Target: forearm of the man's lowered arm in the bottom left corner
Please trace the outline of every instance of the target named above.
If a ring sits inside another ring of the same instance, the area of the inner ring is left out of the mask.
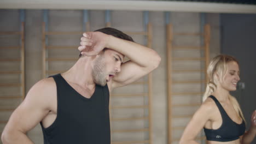
[[[27,137],[26,134],[21,131],[3,131],[1,136],[3,144],[9,143],[26,143],[33,144],[33,142]]]

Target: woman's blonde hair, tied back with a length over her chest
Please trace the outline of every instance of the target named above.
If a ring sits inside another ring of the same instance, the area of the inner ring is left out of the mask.
[[[216,90],[217,75],[223,81],[223,77],[226,74],[227,63],[229,62],[236,62],[238,64],[236,58],[228,55],[218,55],[211,59],[207,68],[207,76],[210,81],[207,83],[205,94],[203,94],[203,101],[205,101]],[[230,95],[229,99],[236,113],[242,117],[243,121],[245,121],[245,117],[243,117],[242,110],[236,98]]]

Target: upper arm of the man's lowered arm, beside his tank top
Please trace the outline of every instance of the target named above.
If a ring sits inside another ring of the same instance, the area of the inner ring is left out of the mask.
[[[36,84],[37,85],[37,84]],[[49,103],[43,97],[47,94],[40,86],[34,86],[26,98],[11,114],[5,129],[19,130],[24,133],[36,127],[49,112]],[[47,90],[46,90],[47,91]]]

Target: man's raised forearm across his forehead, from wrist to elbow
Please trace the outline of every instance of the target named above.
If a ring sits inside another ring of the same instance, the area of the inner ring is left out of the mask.
[[[159,64],[160,56],[146,46],[109,35],[107,48],[123,53],[132,62],[142,67],[155,67]]]

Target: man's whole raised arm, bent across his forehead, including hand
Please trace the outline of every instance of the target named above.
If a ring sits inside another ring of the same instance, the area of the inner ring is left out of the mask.
[[[121,65],[121,71],[113,78],[112,88],[132,83],[158,67],[161,58],[153,49],[101,32],[84,33],[79,50],[83,55],[97,55],[104,48],[117,51],[130,59]]]

